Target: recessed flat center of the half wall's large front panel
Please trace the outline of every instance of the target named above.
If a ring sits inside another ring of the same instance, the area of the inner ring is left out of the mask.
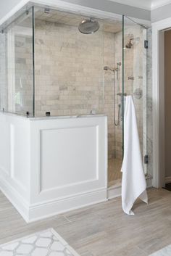
[[[98,180],[98,131],[98,126],[41,131],[41,191]]]

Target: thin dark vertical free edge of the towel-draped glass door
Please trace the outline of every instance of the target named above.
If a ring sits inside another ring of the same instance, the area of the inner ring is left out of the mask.
[[[125,47],[125,15],[122,15],[122,158],[124,155],[124,85],[125,85],[125,62],[124,62],[124,47]]]

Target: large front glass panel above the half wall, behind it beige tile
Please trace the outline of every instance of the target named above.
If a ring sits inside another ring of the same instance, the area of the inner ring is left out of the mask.
[[[90,115],[103,111],[103,22],[83,34],[85,18],[53,9],[35,10],[36,116]]]

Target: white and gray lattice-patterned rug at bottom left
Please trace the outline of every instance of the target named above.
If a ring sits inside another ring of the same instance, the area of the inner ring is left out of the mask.
[[[79,256],[53,228],[0,245],[0,256]]]

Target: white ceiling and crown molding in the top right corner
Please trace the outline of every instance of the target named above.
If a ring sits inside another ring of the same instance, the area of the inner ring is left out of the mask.
[[[127,4],[133,7],[139,7],[142,9],[157,9],[159,7],[162,7],[166,4],[170,4],[171,0],[109,0],[109,1],[115,1],[120,4]]]

